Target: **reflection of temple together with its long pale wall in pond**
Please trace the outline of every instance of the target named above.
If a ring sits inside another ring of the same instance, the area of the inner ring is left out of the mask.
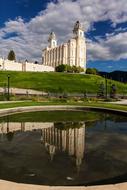
[[[75,158],[79,170],[85,150],[84,122],[2,122],[0,123],[0,139],[9,133],[41,130],[41,142],[48,151],[51,160],[57,151],[66,152]]]

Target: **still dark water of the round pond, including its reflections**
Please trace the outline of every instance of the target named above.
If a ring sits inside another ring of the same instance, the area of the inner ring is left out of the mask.
[[[127,181],[127,117],[90,111],[1,117],[0,179],[44,185]]]

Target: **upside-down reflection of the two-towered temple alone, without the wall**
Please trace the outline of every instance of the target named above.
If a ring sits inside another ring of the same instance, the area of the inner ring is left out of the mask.
[[[75,123],[71,123],[73,126]],[[57,150],[67,152],[69,156],[74,156],[77,169],[80,168],[85,150],[85,123],[77,123],[75,128],[60,129],[57,127],[42,129],[41,140],[48,150],[51,160]]]

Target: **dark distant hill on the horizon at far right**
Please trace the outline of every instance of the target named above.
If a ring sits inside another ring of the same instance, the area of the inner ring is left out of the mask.
[[[127,82],[127,72],[126,71],[113,71],[111,73],[99,72],[101,76],[106,76],[109,79],[116,80],[119,82]]]

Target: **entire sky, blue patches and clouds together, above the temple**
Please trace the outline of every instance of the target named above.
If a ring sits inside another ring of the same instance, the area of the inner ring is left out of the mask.
[[[13,49],[17,60],[41,61],[50,31],[65,42],[77,20],[85,30],[87,67],[127,71],[126,0],[1,0],[0,57]]]

